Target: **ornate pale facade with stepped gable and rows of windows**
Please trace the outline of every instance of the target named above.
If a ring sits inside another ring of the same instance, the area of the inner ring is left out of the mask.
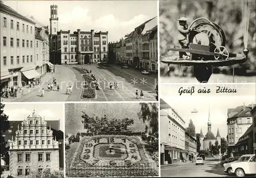
[[[59,170],[59,142],[44,118],[34,111],[15,133],[9,149],[12,176],[26,177],[42,169]]]

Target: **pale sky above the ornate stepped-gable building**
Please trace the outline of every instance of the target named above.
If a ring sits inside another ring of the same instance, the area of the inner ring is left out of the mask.
[[[62,103],[5,103],[4,113],[9,116],[9,121],[23,121],[33,113],[45,117],[45,120],[59,120],[60,130],[64,131],[64,106]]]

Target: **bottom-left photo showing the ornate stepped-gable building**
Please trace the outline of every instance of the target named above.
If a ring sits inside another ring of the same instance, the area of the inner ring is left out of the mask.
[[[1,178],[64,177],[64,105],[1,103]]]

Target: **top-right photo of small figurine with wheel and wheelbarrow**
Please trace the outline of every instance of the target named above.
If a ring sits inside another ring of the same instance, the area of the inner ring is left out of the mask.
[[[255,82],[255,1],[159,1],[160,83]]]

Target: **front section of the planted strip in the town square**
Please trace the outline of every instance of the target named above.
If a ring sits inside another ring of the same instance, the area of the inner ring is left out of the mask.
[[[95,98],[96,92],[93,84],[93,78],[89,75],[83,75],[84,87],[82,98]]]

